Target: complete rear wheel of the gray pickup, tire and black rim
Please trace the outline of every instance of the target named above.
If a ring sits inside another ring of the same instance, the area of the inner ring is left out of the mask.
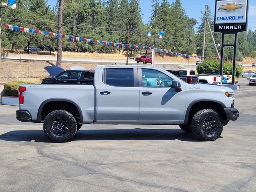
[[[50,112],[44,120],[44,133],[54,142],[70,142],[76,130],[76,119],[65,110]]]

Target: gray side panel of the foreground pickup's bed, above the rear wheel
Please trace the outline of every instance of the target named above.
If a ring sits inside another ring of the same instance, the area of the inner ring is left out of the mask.
[[[28,110],[32,120],[38,119],[40,106],[46,101],[54,100],[69,101],[78,105],[84,123],[92,123],[94,120],[93,85],[21,84],[20,86],[26,87],[26,91],[22,93],[24,104],[20,105],[20,110]]]

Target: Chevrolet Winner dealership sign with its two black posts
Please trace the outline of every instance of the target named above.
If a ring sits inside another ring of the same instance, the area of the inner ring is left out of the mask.
[[[234,47],[232,84],[236,76],[236,46],[238,32],[246,31],[248,0],[216,0],[214,32],[222,33],[220,75],[223,75],[224,47]],[[224,44],[225,34],[234,34],[234,44]]]

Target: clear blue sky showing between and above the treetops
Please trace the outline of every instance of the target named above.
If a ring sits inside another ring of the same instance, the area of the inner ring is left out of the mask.
[[[50,6],[55,6],[57,0],[48,0]],[[162,1],[160,0],[160,3]],[[175,2],[175,0],[169,0],[168,2]],[[205,5],[210,6],[212,14],[214,14],[215,0],[181,0],[182,7],[185,9],[186,14],[190,18],[194,18],[198,23],[201,22],[201,11],[205,11]],[[142,20],[144,23],[149,22],[151,16],[150,10],[152,9],[151,0],[140,0],[140,8],[142,14]],[[199,24],[196,25],[196,27]],[[197,31],[197,28],[195,30]],[[249,0],[249,11],[248,11],[248,27],[247,29],[256,30],[256,0]]]

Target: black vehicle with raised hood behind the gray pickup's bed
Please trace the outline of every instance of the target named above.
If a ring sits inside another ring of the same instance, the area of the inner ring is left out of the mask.
[[[48,66],[44,69],[51,77],[44,78],[41,84],[93,84],[94,70],[66,70],[59,73],[56,66]]]

